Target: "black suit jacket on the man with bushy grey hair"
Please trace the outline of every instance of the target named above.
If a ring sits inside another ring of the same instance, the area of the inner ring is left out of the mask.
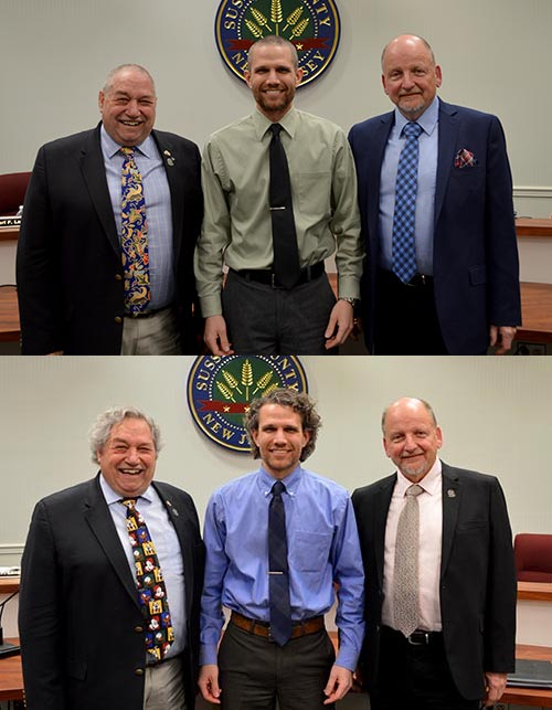
[[[204,548],[190,496],[153,486],[183,558],[184,687],[193,708]],[[22,559],[19,624],[30,710],[142,710],[142,616],[98,477],[36,505]]]

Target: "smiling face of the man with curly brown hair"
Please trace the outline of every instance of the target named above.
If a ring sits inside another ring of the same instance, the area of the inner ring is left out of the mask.
[[[258,411],[258,430],[252,432],[266,470],[275,478],[288,476],[299,464],[310,432],[290,406],[264,404]]]

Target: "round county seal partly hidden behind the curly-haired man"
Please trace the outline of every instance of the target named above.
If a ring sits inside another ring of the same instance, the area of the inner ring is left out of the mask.
[[[200,356],[188,377],[188,406],[200,431],[235,452],[251,451],[243,425],[250,402],[277,388],[308,392],[295,356]]]

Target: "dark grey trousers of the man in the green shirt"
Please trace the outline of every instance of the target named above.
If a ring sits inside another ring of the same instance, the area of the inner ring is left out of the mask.
[[[325,350],[336,297],[321,274],[287,290],[229,272],[222,292],[223,315],[237,354],[336,354]]]

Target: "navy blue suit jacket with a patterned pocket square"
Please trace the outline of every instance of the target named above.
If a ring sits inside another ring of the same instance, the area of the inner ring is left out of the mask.
[[[380,173],[393,125],[394,112],[390,112],[357,124],[349,134],[367,252],[362,301],[369,349],[373,348],[378,298]],[[448,351],[470,354],[487,348],[490,325],[521,324],[511,172],[496,116],[439,100],[438,131],[433,250],[436,309]],[[475,167],[455,167],[463,148],[474,153]]]

